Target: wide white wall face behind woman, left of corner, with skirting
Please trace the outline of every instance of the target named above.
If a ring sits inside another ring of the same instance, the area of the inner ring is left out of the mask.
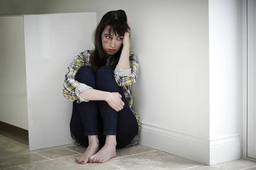
[[[3,2],[3,14],[96,12],[98,22],[106,12],[124,9],[131,23],[131,50],[140,59],[133,87],[134,110],[143,122],[140,144],[209,161],[208,1]],[[152,137],[159,140],[148,140]]]

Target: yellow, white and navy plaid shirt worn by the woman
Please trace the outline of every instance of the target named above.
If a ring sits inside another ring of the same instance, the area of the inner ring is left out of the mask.
[[[89,102],[88,100],[84,100],[79,96],[79,93],[86,91],[92,87],[85,85],[83,83],[79,83],[75,80],[76,72],[79,70],[81,66],[91,66],[90,65],[90,54],[93,50],[86,50],[80,54],[78,54],[73,61],[70,63],[68,69],[69,72],[65,74],[64,86],[63,86],[63,95],[65,98],[71,101],[80,102]],[[106,62],[106,66],[110,67],[113,64],[113,56],[108,57]],[[131,94],[131,85],[137,81],[138,68],[139,68],[139,60],[135,54],[130,52],[129,56],[130,68],[122,69],[118,65],[114,70],[114,77],[116,79],[116,83],[118,86],[122,87],[122,90],[125,94],[125,98],[131,108],[133,104],[132,94]],[[134,115],[136,116],[139,130],[141,128],[141,120],[135,111],[132,110]],[[139,141],[138,136],[136,136],[133,141],[129,145],[137,144]]]

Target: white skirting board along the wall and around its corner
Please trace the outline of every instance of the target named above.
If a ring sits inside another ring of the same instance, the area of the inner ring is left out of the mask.
[[[213,165],[240,159],[239,135],[210,142],[207,137],[166,130],[144,122],[139,137],[141,145],[202,164]]]

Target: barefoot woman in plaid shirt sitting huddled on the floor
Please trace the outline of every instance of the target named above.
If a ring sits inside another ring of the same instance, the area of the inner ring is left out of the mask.
[[[131,85],[139,62],[130,51],[129,30],[125,11],[109,11],[94,32],[95,48],[68,67],[63,94],[73,101],[70,133],[87,147],[77,163],[104,163],[116,149],[138,143],[141,121],[131,110]]]

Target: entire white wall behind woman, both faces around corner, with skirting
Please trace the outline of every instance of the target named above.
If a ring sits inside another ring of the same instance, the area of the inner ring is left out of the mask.
[[[107,11],[124,9],[131,50],[140,59],[133,86],[140,144],[212,164],[236,159],[239,144],[237,2],[2,0],[0,12],[96,12],[99,22]],[[222,151],[235,156],[217,159]]]

